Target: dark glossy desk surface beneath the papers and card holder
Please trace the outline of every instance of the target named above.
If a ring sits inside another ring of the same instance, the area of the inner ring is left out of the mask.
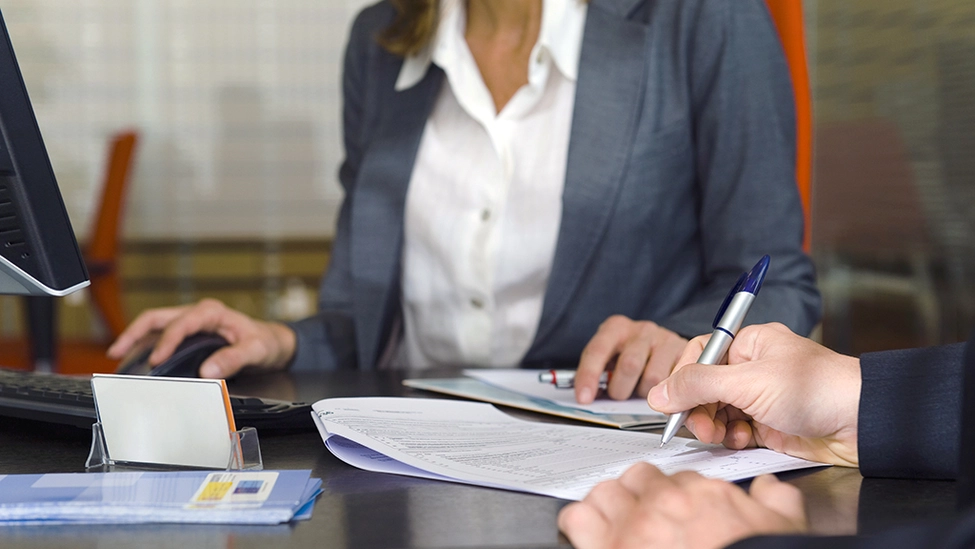
[[[442,372],[441,372],[442,373]],[[314,402],[356,395],[433,396],[402,387],[401,373],[274,374],[235,380],[231,391]],[[521,417],[540,418],[520,413]],[[370,473],[333,457],[315,431],[260,433],[267,469],[312,469],[325,493],[312,520],[275,527],[0,527],[0,547],[556,547],[563,500]],[[80,472],[90,433],[0,419],[0,474]],[[817,533],[869,532],[951,512],[954,483],[863,479],[829,467],[788,477],[802,489]]]

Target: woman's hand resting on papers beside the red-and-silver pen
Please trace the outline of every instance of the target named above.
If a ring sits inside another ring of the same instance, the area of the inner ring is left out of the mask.
[[[651,387],[668,375],[687,340],[653,322],[614,315],[599,326],[579,359],[576,400],[589,404],[596,398],[599,376],[613,365],[607,393],[625,400],[634,392],[645,397]]]

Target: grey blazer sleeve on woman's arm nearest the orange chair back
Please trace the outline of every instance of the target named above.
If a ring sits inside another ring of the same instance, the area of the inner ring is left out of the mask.
[[[761,0],[684,5],[697,11],[688,59],[705,284],[658,323],[684,336],[710,333],[738,276],[768,254],[746,322],[782,322],[807,335],[820,297],[802,250],[795,100],[782,45]]]

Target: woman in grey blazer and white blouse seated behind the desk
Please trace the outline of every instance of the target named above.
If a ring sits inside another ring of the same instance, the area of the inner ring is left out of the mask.
[[[585,356],[616,362],[611,395],[645,394],[764,254],[748,321],[818,322],[791,85],[761,0],[380,2],[352,28],[343,98],[318,314],[156,309],[110,354],[162,330],[158,362],[214,331],[231,345],[207,377],[574,368],[598,330]]]

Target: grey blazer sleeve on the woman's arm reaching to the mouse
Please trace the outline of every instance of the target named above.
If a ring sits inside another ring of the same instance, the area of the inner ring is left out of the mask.
[[[353,322],[352,274],[349,258],[350,215],[369,121],[365,105],[369,90],[371,57],[379,46],[374,36],[388,24],[388,5],[367,8],[356,17],[345,51],[342,70],[342,131],[345,159],[339,168],[339,182],[345,191],[329,257],[328,270],[319,288],[318,313],[293,322],[297,348],[293,370],[349,368],[357,365]]]

